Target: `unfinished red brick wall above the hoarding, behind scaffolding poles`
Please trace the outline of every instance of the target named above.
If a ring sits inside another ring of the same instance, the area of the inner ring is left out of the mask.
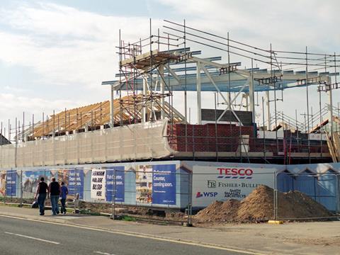
[[[290,135],[286,142],[278,140],[258,139],[254,137],[252,126],[239,127],[229,124],[206,124],[206,125],[184,125],[168,126],[169,144],[171,148],[179,152],[236,152],[239,146],[240,135],[249,135],[249,152],[308,152],[307,140],[293,140],[290,145]],[[278,147],[278,150],[277,150]],[[319,143],[310,144],[310,152],[329,152],[327,145],[320,146]]]

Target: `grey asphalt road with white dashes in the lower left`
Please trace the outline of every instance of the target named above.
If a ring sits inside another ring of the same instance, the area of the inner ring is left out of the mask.
[[[230,254],[242,252],[0,216],[0,254]]]

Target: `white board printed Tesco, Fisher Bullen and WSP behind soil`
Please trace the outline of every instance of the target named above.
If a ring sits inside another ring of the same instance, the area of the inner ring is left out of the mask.
[[[193,166],[193,206],[205,207],[215,200],[242,200],[257,186],[273,188],[274,168],[251,166]]]

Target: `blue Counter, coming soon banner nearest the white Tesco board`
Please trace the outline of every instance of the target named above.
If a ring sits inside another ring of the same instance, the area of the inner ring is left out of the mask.
[[[176,164],[152,166],[152,203],[176,205]]]

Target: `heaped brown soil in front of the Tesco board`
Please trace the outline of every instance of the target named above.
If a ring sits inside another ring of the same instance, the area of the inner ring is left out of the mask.
[[[332,215],[323,205],[300,191],[278,192],[277,208],[279,219],[320,218]],[[200,210],[195,217],[198,222],[262,222],[273,218],[273,189],[263,185],[255,188],[241,202],[215,201]]]

